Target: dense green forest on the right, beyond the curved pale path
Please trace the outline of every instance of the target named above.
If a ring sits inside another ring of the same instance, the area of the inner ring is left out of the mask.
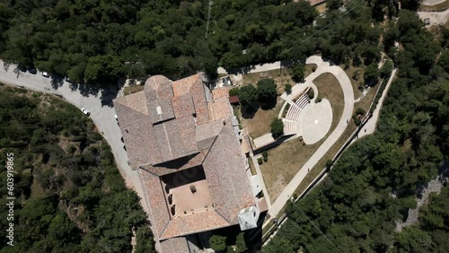
[[[405,221],[415,196],[449,159],[449,33],[435,37],[416,13],[401,10],[383,31],[399,68],[377,131],[352,144],[330,175],[287,206],[288,220],[264,252],[447,252],[449,187]],[[401,42],[395,48],[394,41]]]

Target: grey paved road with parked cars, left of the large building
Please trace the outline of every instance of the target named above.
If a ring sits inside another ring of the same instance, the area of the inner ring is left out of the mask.
[[[28,72],[19,72],[19,74],[17,74],[13,72],[15,65],[10,65],[7,69],[3,66],[4,62],[0,60],[0,82],[23,86],[37,92],[48,92],[61,95],[76,107],[90,110],[90,117],[92,118],[93,123],[95,123],[99,132],[104,133],[104,138],[110,144],[120,174],[123,179],[125,179],[128,188],[133,188],[141,199],[145,199],[143,197],[142,185],[137,171],[131,170],[128,166],[128,155],[123,149],[123,143],[120,140],[120,129],[114,118],[115,109],[101,105],[101,92],[96,96],[83,96],[79,91],[72,91],[69,87],[69,83],[66,82],[55,90],[51,85],[50,79],[43,77],[40,72],[38,72],[38,74],[30,74]],[[145,211],[148,212],[147,204],[144,203],[144,201],[141,201],[141,203],[144,206]]]

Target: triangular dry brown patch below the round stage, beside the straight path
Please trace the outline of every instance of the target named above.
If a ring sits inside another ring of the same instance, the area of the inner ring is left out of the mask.
[[[298,138],[269,150],[269,161],[260,165],[260,170],[271,202],[276,200],[323,141],[324,138],[316,144],[303,145]]]

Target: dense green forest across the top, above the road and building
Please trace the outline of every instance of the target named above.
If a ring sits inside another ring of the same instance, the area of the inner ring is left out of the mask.
[[[383,18],[388,3],[352,0],[343,14],[334,0],[314,26],[318,13],[305,1],[216,0],[210,18],[208,0],[4,1],[0,57],[77,83],[148,74],[175,80],[215,74],[218,65],[295,63],[317,51],[336,63],[357,57],[369,65],[380,58],[381,30],[372,20]]]

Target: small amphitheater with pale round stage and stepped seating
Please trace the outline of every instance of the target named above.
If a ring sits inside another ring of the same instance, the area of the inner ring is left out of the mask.
[[[329,100],[321,100],[319,103],[311,103],[307,88],[297,100],[288,100],[290,105],[284,122],[284,135],[292,135],[293,138],[303,136],[305,144],[319,142],[330,130],[332,124],[332,108]]]

